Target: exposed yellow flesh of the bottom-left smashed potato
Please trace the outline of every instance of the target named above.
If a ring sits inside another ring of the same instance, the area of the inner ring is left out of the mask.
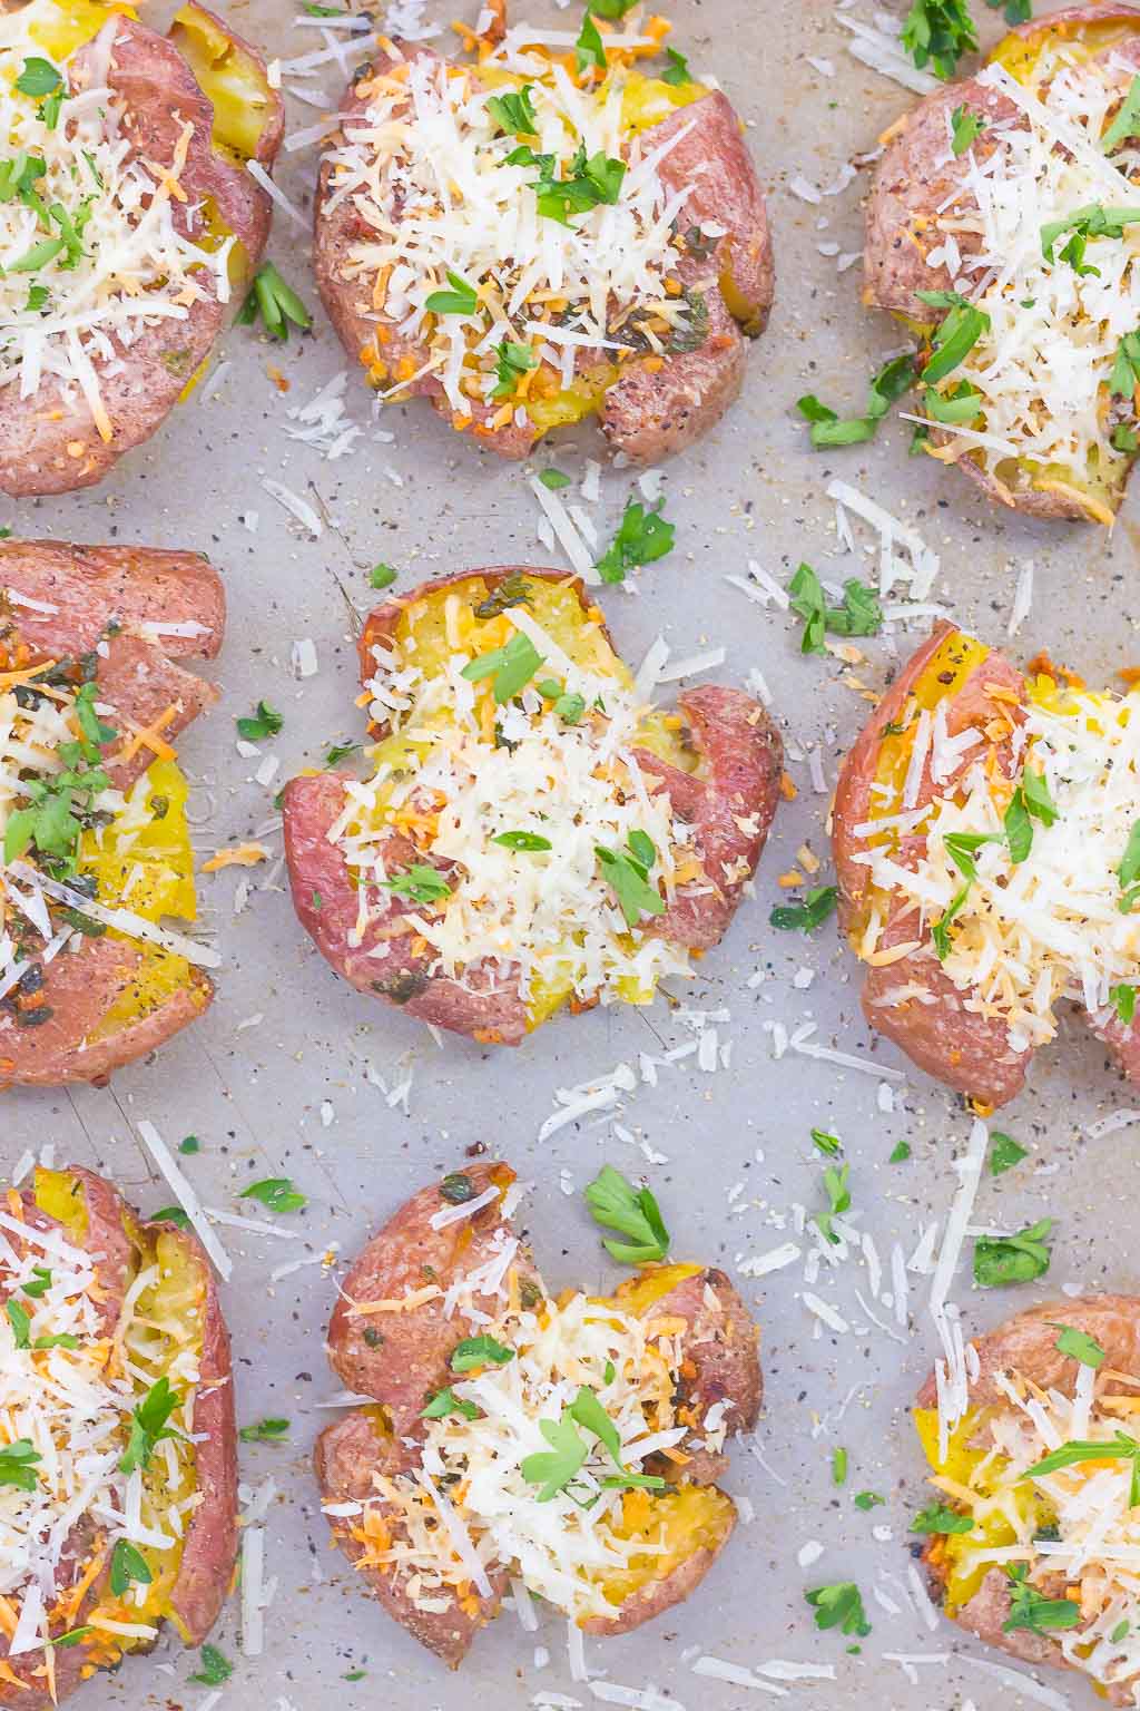
[[[87,1206],[82,1186],[65,1170],[36,1170],[36,1205],[51,1218],[60,1222],[73,1237],[82,1237],[87,1228]],[[191,1350],[195,1364],[202,1360],[202,1335],[205,1324],[207,1275],[203,1264],[186,1247],[186,1244],[169,1230],[140,1230],[133,1220],[128,1234],[135,1244],[137,1258],[132,1278],[140,1271],[156,1266],[157,1278],[135,1302],[130,1360],[138,1376],[133,1376],[135,1401],[142,1401],[147,1391],[159,1379],[171,1379],[176,1359]],[[140,1335],[137,1335],[142,1328]],[[176,1389],[181,1386],[171,1379]],[[142,1471],[142,1519],[156,1531],[166,1531],[176,1538],[174,1545],[157,1548],[154,1545],[137,1545],[150,1571],[150,1584],[142,1605],[126,1598],[115,1598],[109,1586],[106,1596],[97,1605],[97,1613],[113,1622],[159,1622],[169,1619],[181,1627],[171,1605],[171,1595],[178,1581],[183,1557],[183,1538],[174,1528],[166,1526],[166,1516],[173,1504],[181,1504],[193,1495],[197,1483],[195,1449],[188,1442],[174,1442],[176,1473],[171,1480],[166,1454],[150,1458],[150,1465]],[[183,1523],[185,1525],[185,1523]],[[94,1613],[94,1612],[92,1612]],[[183,1637],[188,1637],[183,1632]],[[84,1641],[92,1661],[113,1663],[121,1653],[145,1646],[145,1639],[94,1632]]]

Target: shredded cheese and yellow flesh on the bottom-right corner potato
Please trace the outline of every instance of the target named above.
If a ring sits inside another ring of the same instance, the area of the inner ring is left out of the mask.
[[[1015,1371],[998,1374],[996,1384],[1008,1406],[966,1415],[943,1456],[931,1413],[918,1415],[935,1470],[930,1483],[974,1519],[971,1533],[933,1542],[935,1567],[947,1574],[947,1607],[954,1613],[967,1603],[995,1567],[1024,1567],[1043,1596],[1080,1607],[1078,1625],[1048,1631],[1065,1661],[1101,1687],[1133,1682],[1140,1509],[1130,1504],[1131,1463],[1106,1456],[1032,1480],[1025,1471],[1061,1444],[1135,1436],[1140,1379],[1078,1365],[1072,1394],[1044,1391]]]

